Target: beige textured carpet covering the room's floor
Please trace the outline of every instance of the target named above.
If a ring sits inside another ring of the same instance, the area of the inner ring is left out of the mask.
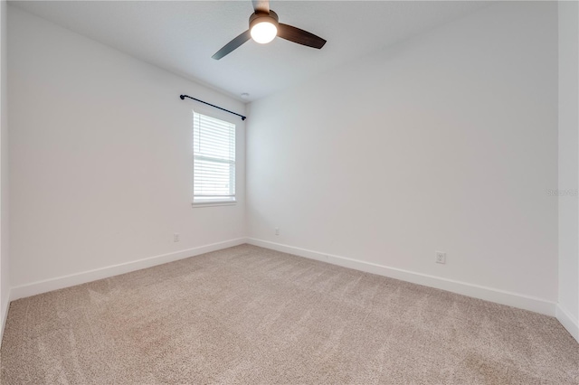
[[[3,384],[577,384],[555,318],[242,245],[14,301]]]

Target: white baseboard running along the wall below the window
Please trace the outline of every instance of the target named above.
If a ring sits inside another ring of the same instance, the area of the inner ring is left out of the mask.
[[[245,238],[230,239],[223,242],[212,243],[210,245],[200,246],[193,249],[185,249],[173,253],[162,254],[155,257],[138,259],[131,262],[121,263],[106,268],[96,268],[94,270],[83,271],[69,276],[56,277],[46,279],[43,281],[33,282],[23,286],[12,287],[10,291],[10,301],[24,298],[26,296],[35,296],[37,294],[46,293],[52,290],[58,290],[64,287],[85,284],[87,282],[96,281],[98,279],[118,276],[119,274],[129,273],[131,271],[140,270],[142,268],[151,268],[153,266],[162,265],[167,262],[173,262],[178,259],[194,257],[200,254],[211,251],[231,248],[233,246],[242,245],[246,242]],[[7,313],[7,312],[6,312]]]

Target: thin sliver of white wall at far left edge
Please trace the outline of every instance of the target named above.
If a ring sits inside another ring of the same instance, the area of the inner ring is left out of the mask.
[[[7,4],[0,1],[0,343],[10,305],[10,264],[8,247],[8,70]]]

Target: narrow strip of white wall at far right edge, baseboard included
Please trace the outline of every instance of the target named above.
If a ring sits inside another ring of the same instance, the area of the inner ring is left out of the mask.
[[[579,4],[559,2],[559,306],[579,340]]]

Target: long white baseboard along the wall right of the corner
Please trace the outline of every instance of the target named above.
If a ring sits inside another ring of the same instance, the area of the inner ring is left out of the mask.
[[[248,238],[247,243],[266,249],[274,249],[289,254],[294,254],[299,257],[316,259],[322,262],[331,263],[333,265],[342,266],[344,268],[353,268],[356,270],[365,271],[366,273],[400,279],[406,282],[412,282],[413,284],[451,291],[452,293],[457,293],[463,296],[472,296],[474,298],[484,299],[486,301],[495,302],[501,305],[513,306],[519,309],[541,313],[543,315],[555,316],[555,302],[547,301],[545,299],[536,298],[533,296],[525,296],[518,293],[495,289],[492,287],[473,285],[452,279],[429,276],[426,274],[403,270],[401,268],[389,268],[387,266],[377,265],[358,259],[340,257],[308,249],[295,248],[293,246],[282,245],[280,243],[275,243],[268,240]]]

